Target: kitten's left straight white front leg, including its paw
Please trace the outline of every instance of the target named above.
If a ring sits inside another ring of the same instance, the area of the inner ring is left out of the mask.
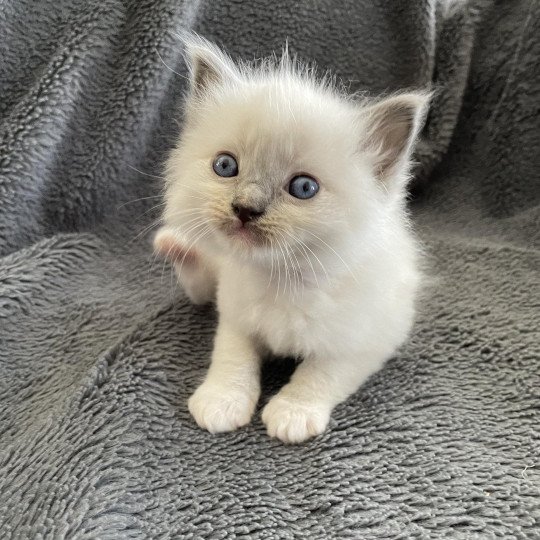
[[[189,411],[211,433],[232,431],[249,423],[260,391],[260,355],[255,343],[233,324],[220,320],[210,369],[189,399]]]

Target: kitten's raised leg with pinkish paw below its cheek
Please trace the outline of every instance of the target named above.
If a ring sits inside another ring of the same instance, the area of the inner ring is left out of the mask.
[[[194,304],[212,302],[216,295],[215,270],[197,250],[186,251],[178,236],[166,227],[154,238],[154,249],[174,263],[180,285]]]

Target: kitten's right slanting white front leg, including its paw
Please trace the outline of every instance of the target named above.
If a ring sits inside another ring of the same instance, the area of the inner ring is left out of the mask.
[[[349,359],[304,359],[290,382],[263,410],[268,434],[285,443],[300,443],[320,435],[332,409],[378,371],[386,358],[388,354],[378,352]]]

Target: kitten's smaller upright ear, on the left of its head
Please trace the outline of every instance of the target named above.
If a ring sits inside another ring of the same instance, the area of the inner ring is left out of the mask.
[[[184,45],[193,95],[201,96],[213,85],[238,77],[234,62],[213,43],[191,36],[184,39]]]

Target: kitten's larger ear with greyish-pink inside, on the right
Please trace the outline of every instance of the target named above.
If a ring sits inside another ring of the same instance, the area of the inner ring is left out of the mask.
[[[387,189],[404,183],[428,103],[428,94],[411,92],[361,111],[361,151],[370,155],[375,174]]]

